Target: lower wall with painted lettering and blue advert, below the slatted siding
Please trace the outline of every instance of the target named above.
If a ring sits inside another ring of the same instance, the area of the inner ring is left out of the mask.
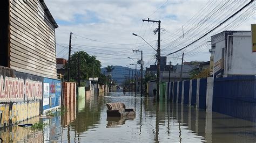
[[[0,128],[60,106],[59,80],[0,66]]]

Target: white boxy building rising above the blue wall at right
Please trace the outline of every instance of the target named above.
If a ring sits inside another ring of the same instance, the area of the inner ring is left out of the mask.
[[[211,37],[211,41],[214,62],[224,55],[225,74],[256,75],[256,53],[252,52],[250,31],[224,31]]]

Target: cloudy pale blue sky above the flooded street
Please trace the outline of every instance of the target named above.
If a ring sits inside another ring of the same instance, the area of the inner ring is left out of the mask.
[[[219,25],[249,1],[217,0],[45,0],[58,28],[56,29],[57,58],[68,59],[69,35],[72,32],[72,52],[84,51],[95,55],[102,67],[129,66],[141,58],[145,67],[156,63],[158,23],[161,21],[161,56],[190,45]],[[167,56],[167,63],[209,61],[210,37],[225,30],[251,30],[256,23],[255,2],[232,17],[227,23],[206,35],[183,51]],[[132,35],[136,33],[140,37]],[[128,59],[130,57],[131,59]],[[134,68],[131,66],[131,68]]]

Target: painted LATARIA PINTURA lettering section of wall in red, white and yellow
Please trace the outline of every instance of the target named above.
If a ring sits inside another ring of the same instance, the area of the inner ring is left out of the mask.
[[[0,72],[0,128],[38,116],[43,99],[43,77]]]

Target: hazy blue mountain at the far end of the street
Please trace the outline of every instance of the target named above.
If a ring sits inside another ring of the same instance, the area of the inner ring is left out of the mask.
[[[122,84],[123,81],[126,80],[127,77],[129,77],[129,69],[130,69],[130,78],[134,78],[135,75],[135,67],[134,69],[128,68],[128,67],[123,67],[123,66],[113,66],[114,70],[111,72],[112,79],[117,82],[117,84]],[[132,75],[133,72],[133,75]],[[145,70],[144,70],[145,72]],[[106,67],[102,68],[102,73],[107,75],[106,73]],[[140,67],[137,65],[137,74],[140,73]]]

